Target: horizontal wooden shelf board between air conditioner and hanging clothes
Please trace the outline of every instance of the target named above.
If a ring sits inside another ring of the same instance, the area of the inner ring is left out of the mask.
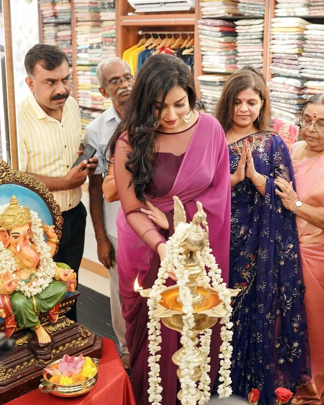
[[[121,26],[194,26],[195,14],[138,14],[119,17]]]

